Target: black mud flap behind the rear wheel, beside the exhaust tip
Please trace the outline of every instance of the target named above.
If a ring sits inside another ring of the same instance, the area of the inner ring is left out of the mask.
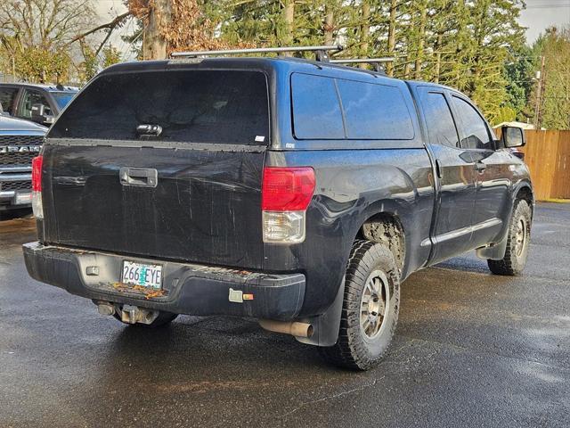
[[[332,346],[338,340],[338,329],[340,328],[340,317],[342,315],[342,302],[345,297],[345,277],[338,287],[337,296],[323,314],[317,317],[307,317],[300,319],[303,323],[313,325],[313,335],[311,337],[296,337],[298,342],[315,346]]]

